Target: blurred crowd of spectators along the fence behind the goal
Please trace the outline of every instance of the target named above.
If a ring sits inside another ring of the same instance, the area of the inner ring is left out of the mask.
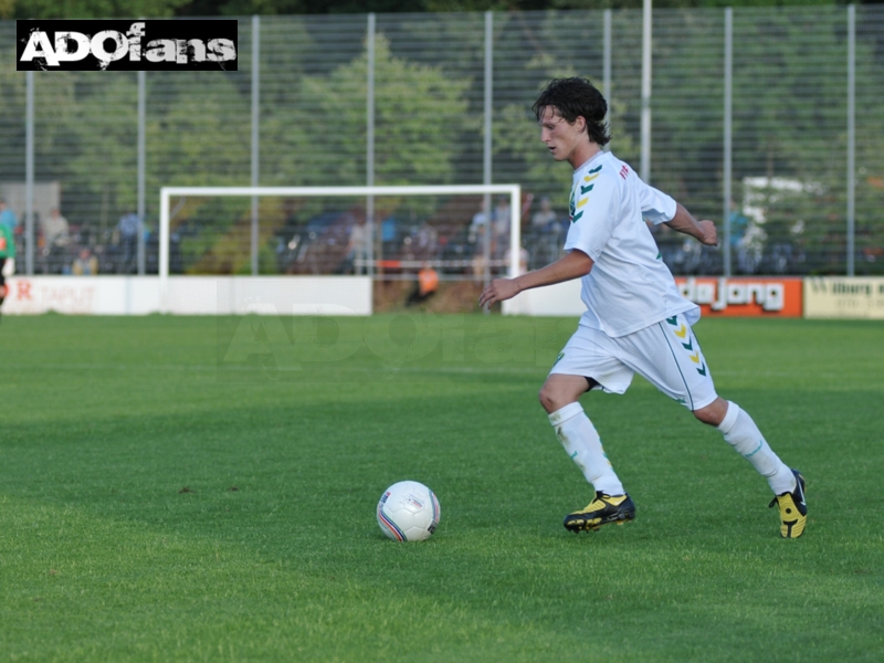
[[[476,199],[453,198],[440,209],[420,213],[397,210],[379,214],[373,233],[365,208],[302,214],[287,213],[262,249],[262,274],[368,274],[417,278],[423,266],[442,280],[483,280],[506,274],[512,261],[513,211],[509,196]],[[552,207],[547,196],[526,194],[522,200],[522,242],[518,262],[523,271],[547,265],[562,252],[568,233],[568,214]],[[24,272],[27,236],[24,224],[0,199],[0,224],[10,230],[19,255],[18,272]],[[787,233],[771,232],[735,203],[730,213],[730,256],[734,274],[803,274],[809,264],[802,249],[802,223]],[[720,275],[723,252],[685,240],[665,227],[654,227],[661,257],[676,275]],[[223,230],[221,230],[223,234]],[[145,273],[156,274],[159,244],[134,210],[127,210],[113,228],[72,224],[55,207],[48,214],[34,212],[33,271],[35,274],[137,274],[138,241],[143,233]],[[212,251],[219,227],[212,220],[179,219],[170,233],[170,273],[193,271],[194,254]],[[723,236],[723,231],[719,229]],[[373,240],[372,240],[373,236]],[[190,242],[190,246],[188,243]],[[193,245],[200,249],[194,251]],[[230,243],[225,245],[230,250]],[[882,252],[857,250],[857,264],[872,264]],[[242,249],[248,262],[249,251]],[[223,265],[235,264],[222,256]],[[240,256],[242,257],[242,256]],[[266,260],[264,260],[266,259]],[[242,261],[241,261],[242,262]],[[212,269],[200,273],[214,273]],[[235,272],[235,270],[232,270]]]

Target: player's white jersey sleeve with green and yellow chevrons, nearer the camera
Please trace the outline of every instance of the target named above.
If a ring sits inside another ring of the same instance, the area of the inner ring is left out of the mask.
[[[571,191],[571,227],[565,250],[579,249],[598,260],[614,232],[619,199],[618,182],[601,172],[589,171],[577,180]]]

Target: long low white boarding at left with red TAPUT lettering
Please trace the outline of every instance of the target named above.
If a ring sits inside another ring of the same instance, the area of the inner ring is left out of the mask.
[[[13,276],[4,315],[49,311],[145,315],[164,309],[157,276]],[[368,276],[170,276],[168,313],[371,315]]]

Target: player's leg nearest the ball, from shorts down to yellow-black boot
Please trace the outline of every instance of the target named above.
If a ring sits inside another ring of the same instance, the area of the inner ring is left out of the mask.
[[[612,387],[608,390],[620,393],[632,379],[632,371],[589,338],[593,334],[578,328],[540,389],[540,403],[556,436],[596,491],[596,498],[586,508],[565,517],[565,527],[572,532],[623,523],[635,515],[635,507],[604,453],[596,427],[578,402],[586,391],[608,389],[590,376],[600,376],[600,380]]]

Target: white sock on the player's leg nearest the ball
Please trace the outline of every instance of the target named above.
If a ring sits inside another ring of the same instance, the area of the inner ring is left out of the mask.
[[[580,403],[569,403],[556,410],[549,415],[549,423],[552,424],[565,451],[597,491],[608,495],[622,495],[625,492],[608,456],[604,455],[596,427]]]

